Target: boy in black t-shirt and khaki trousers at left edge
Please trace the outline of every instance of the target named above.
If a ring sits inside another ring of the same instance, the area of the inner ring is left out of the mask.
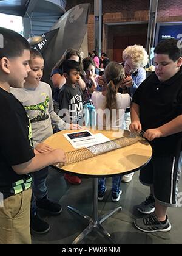
[[[10,87],[22,88],[30,71],[30,46],[24,37],[0,27],[0,244],[31,243],[32,176],[53,163],[66,162],[64,151],[33,151],[32,130],[21,102]]]

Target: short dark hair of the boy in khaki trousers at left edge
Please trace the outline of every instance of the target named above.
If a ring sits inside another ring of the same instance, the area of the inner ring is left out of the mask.
[[[0,27],[0,35],[2,40],[0,59],[21,57],[24,50],[30,50],[29,42],[17,32]]]

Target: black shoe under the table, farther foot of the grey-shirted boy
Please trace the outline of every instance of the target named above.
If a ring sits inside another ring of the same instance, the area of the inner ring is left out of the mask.
[[[36,205],[50,215],[59,215],[62,212],[62,206],[56,202],[50,201],[47,197],[36,201]]]

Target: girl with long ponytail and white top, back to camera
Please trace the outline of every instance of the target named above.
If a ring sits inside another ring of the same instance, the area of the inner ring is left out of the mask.
[[[124,79],[124,68],[117,62],[110,62],[104,71],[107,80],[106,90],[103,92],[94,91],[92,94],[93,105],[98,113],[98,126],[106,126],[106,129],[120,129],[123,126],[124,110],[130,106],[130,95],[128,93],[118,93]],[[101,113],[107,113],[106,118]],[[108,118],[109,116],[109,118]],[[120,200],[121,176],[112,177],[112,201]],[[106,192],[106,178],[99,178],[98,181],[98,200],[104,199]]]

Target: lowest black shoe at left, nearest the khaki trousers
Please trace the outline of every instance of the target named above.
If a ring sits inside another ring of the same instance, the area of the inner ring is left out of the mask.
[[[49,232],[50,226],[36,214],[34,216],[30,216],[30,229],[32,229],[35,233],[45,234]]]

